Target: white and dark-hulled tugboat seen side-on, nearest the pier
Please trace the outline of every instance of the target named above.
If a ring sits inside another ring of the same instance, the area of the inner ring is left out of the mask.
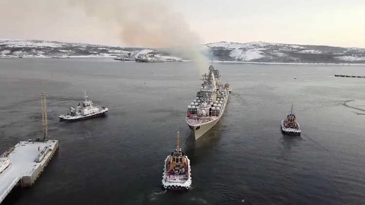
[[[87,119],[91,117],[96,117],[100,115],[105,115],[106,112],[108,112],[108,108],[102,107],[102,106],[93,106],[93,103],[91,100],[87,99],[87,95],[85,92],[85,100],[83,102],[78,103],[76,109],[71,107],[71,112],[67,114],[61,114],[59,115],[59,118],[61,121],[76,121],[76,120],[82,120]]]

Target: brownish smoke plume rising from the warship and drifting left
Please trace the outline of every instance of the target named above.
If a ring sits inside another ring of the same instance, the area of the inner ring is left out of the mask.
[[[174,48],[183,51],[202,73],[207,69],[207,59],[198,45],[200,37],[192,31],[183,15],[175,12],[167,0],[0,0],[0,18],[6,20],[12,32],[52,30],[48,33],[73,35],[78,29],[74,22],[62,19],[84,13],[93,24],[86,28],[85,36],[104,32],[108,38],[117,38],[126,46],[148,48]],[[85,18],[86,19],[86,18]],[[10,23],[13,27],[10,26]],[[16,22],[14,22],[16,21]],[[75,20],[76,21],[76,20]],[[45,25],[47,28],[41,28]],[[14,29],[14,26],[17,29]],[[92,28],[91,28],[92,27]],[[50,29],[52,28],[52,29]],[[0,35],[2,33],[0,28]],[[171,50],[171,49],[170,49]]]

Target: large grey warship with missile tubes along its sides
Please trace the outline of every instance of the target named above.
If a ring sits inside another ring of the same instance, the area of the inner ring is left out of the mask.
[[[186,123],[194,131],[195,140],[213,128],[223,115],[229,97],[229,91],[219,82],[219,70],[213,64],[208,74],[202,75],[203,83],[196,99],[187,106]]]

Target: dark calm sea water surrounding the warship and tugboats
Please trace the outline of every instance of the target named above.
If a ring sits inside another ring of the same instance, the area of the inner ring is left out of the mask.
[[[3,204],[365,204],[365,115],[343,105],[365,100],[365,79],[334,77],[365,75],[365,67],[215,67],[233,92],[219,123],[195,141],[184,121],[201,83],[192,63],[0,59],[0,152],[42,136],[42,91],[50,139],[60,144],[35,186],[16,189]],[[83,91],[108,115],[59,122]],[[292,103],[301,137],[280,132]],[[163,192],[177,130],[193,189]]]

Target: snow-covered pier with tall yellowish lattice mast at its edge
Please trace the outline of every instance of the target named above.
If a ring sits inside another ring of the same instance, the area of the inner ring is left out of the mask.
[[[18,142],[0,155],[0,204],[15,186],[32,186],[58,150],[48,139],[46,94],[41,93],[43,138]]]

